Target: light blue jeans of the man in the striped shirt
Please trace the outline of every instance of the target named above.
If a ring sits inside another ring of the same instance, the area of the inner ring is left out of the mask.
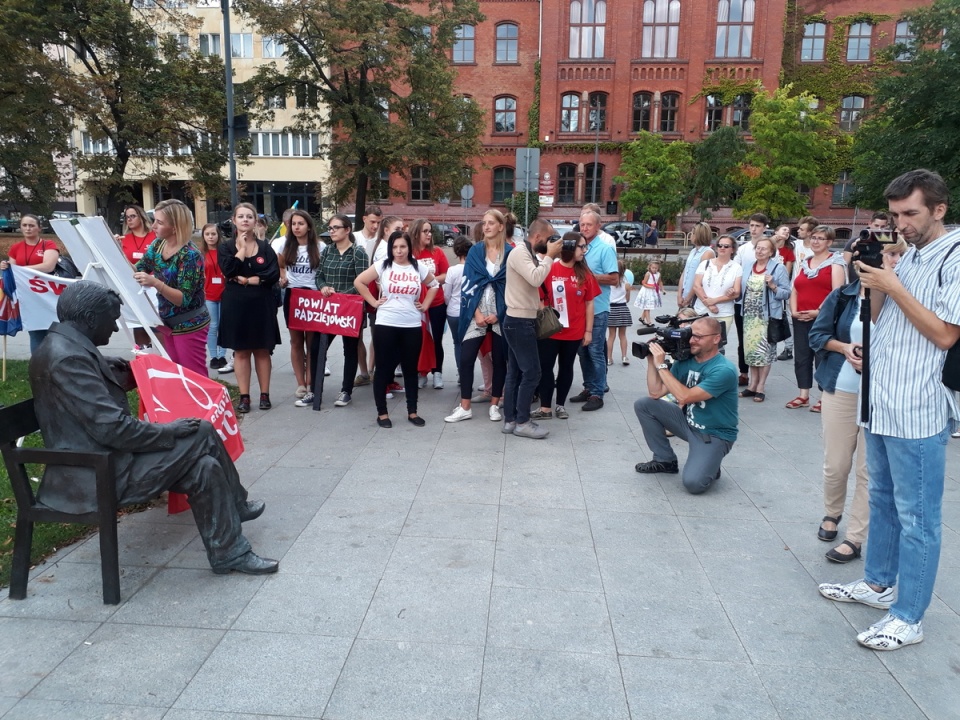
[[[919,440],[874,435],[869,430],[865,437],[870,535],[864,579],[883,587],[898,585],[890,614],[916,623],[930,605],[940,562],[950,429]]]

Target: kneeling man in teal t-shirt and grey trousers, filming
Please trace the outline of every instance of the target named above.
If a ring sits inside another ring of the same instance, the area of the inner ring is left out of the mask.
[[[677,455],[664,432],[669,430],[690,445],[683,486],[694,495],[720,477],[720,463],[737,439],[737,367],[720,354],[721,332],[713,318],[696,320],[689,336],[689,357],[672,367],[666,363],[663,347],[651,341],[643,353],[650,397],[633,404],[653,453],[653,460],[637,463],[636,471],[679,472]],[[676,405],[660,399],[667,393],[676,398]]]

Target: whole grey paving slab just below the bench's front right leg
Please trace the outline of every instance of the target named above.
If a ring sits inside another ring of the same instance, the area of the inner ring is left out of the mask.
[[[170,707],[222,637],[220,630],[103,625],[30,697]]]

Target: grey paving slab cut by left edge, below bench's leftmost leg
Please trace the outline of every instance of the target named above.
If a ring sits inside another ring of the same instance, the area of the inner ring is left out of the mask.
[[[0,696],[26,695],[96,630],[96,623],[0,618]]]

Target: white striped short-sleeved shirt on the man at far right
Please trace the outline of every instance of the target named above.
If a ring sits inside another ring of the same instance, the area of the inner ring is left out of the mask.
[[[911,247],[896,268],[907,291],[951,325],[960,325],[960,248],[946,263],[944,258],[956,242],[960,242],[960,231],[922,250]],[[937,279],[941,264],[943,285]],[[940,380],[946,355],[886,298],[870,338],[870,432],[928,438],[960,420],[957,394]]]

